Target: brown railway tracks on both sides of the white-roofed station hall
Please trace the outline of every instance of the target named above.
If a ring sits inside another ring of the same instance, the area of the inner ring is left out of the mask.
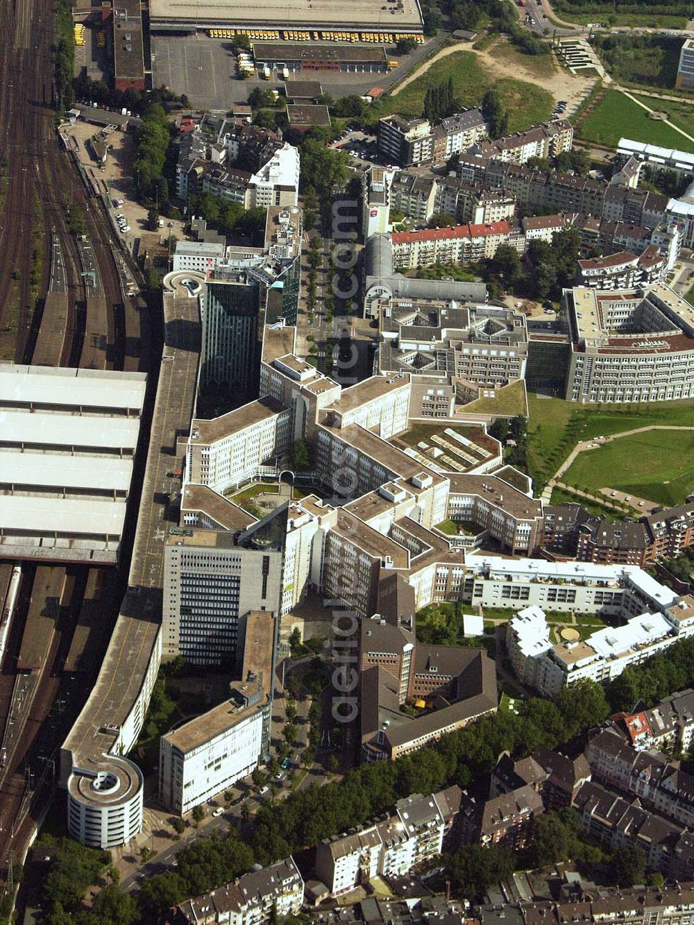
[[[53,0],[0,5],[0,345],[20,363],[146,370],[152,322],[121,284],[124,265],[137,271],[98,181],[82,181],[55,129],[54,20]],[[71,232],[76,212],[85,240]],[[130,543],[133,526],[130,512]],[[125,574],[0,561],[0,890],[56,796],[59,747],[98,672]]]

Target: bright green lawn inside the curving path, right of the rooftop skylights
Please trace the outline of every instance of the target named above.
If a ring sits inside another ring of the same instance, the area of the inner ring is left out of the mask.
[[[665,506],[681,504],[694,490],[694,432],[651,430],[580,453],[568,485],[617,488]]]

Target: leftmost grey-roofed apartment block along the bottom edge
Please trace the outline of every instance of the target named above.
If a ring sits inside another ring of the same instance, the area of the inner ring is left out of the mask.
[[[185,925],[268,925],[276,916],[297,915],[303,905],[304,880],[290,856],[176,909]]]

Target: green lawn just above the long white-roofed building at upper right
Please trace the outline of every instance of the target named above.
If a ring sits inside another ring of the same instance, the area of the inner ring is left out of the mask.
[[[655,108],[658,101],[652,102]],[[601,103],[578,126],[578,137],[611,148],[620,138],[630,138],[635,142],[694,152],[694,143],[665,123],[651,119],[645,109],[618,90],[605,93]]]

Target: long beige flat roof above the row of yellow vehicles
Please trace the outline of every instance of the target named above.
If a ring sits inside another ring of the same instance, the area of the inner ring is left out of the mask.
[[[305,25],[339,29],[422,30],[422,17],[416,0],[402,0],[397,9],[391,9],[390,5],[384,9],[380,0],[353,0],[348,6],[340,0],[292,0],[289,4],[282,0],[257,0],[254,4],[208,0],[199,5],[191,0],[153,0],[150,14],[156,21],[187,19],[261,29],[268,26],[296,29]]]

